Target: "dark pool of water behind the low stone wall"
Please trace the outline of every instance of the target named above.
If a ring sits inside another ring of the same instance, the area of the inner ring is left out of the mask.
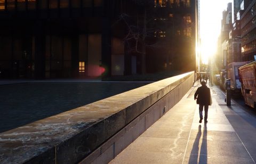
[[[0,133],[149,83],[0,85]]]

